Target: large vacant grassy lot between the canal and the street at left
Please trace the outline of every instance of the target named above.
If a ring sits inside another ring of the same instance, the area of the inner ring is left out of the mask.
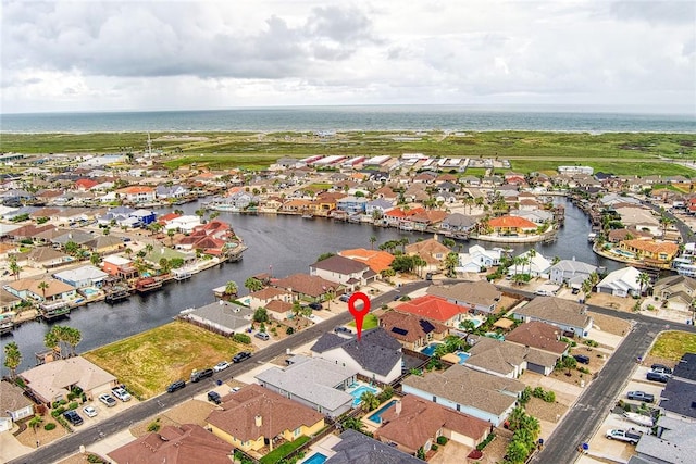
[[[85,354],[140,398],[162,392],[194,369],[212,367],[249,350],[231,339],[183,322],[173,322]]]

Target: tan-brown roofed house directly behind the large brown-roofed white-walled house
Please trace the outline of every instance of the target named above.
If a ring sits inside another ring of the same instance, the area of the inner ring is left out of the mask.
[[[499,377],[518,378],[524,371],[549,375],[560,354],[489,337],[478,337],[469,350],[467,367]]]

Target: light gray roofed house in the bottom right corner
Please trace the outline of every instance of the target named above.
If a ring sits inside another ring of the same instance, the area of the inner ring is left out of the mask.
[[[635,447],[638,457],[647,463],[673,464],[694,462],[696,423],[660,416],[657,435],[644,434]]]

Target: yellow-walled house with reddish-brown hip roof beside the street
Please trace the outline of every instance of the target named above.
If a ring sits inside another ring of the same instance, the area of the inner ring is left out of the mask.
[[[243,451],[275,448],[279,440],[311,437],[324,428],[323,414],[254,384],[225,396],[222,410],[206,422],[216,437]]]

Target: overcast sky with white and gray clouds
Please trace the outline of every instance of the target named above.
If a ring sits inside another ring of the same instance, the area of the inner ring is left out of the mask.
[[[693,0],[1,2],[1,111],[606,104],[696,115]]]

